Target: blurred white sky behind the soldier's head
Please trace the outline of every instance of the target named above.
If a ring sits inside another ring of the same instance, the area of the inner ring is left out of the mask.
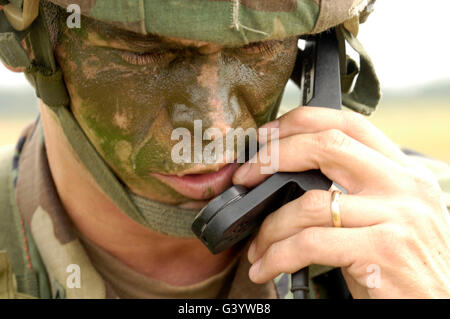
[[[359,39],[382,87],[404,89],[450,79],[450,1],[378,0]],[[28,85],[0,63],[0,88]]]

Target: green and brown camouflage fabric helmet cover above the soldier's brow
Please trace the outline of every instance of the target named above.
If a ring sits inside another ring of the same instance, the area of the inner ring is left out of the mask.
[[[375,0],[48,0],[140,34],[239,46],[364,18]]]

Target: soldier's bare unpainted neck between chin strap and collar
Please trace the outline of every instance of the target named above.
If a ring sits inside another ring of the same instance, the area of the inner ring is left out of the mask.
[[[58,195],[77,230],[134,270],[175,286],[211,277],[236,255],[212,255],[197,239],[159,234],[134,222],[101,191],[41,104],[50,170]],[[198,267],[202,265],[202,267]]]

